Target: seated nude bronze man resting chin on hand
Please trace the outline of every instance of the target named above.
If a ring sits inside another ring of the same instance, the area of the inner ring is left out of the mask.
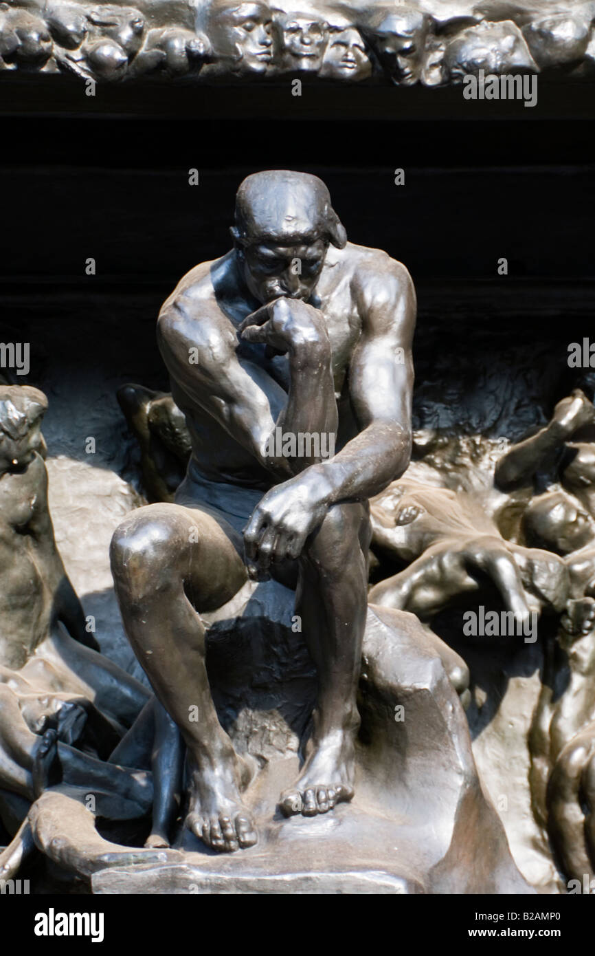
[[[409,273],[347,242],[319,179],[249,176],[231,234],[233,250],[184,276],[159,315],[192,442],[186,477],[175,503],[132,512],[112,542],[127,634],[186,744],[186,826],[219,851],[257,836],[242,797],[249,767],[211,699],[200,614],[248,577],[296,588],[318,700],[281,809],[316,815],[350,800],[367,500],[408,465],[414,377]],[[300,435],[315,441],[300,449]]]

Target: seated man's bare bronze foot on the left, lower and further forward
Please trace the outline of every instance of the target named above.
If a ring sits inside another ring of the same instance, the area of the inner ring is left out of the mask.
[[[190,767],[188,829],[220,853],[254,846],[258,836],[240,796],[251,779],[246,761],[234,755],[214,768],[199,771],[192,763]]]

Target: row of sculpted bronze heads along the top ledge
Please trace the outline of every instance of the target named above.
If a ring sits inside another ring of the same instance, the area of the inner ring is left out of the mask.
[[[479,70],[557,68],[582,76],[595,67],[595,0],[580,6],[566,0],[565,7],[541,12],[514,3],[491,11],[470,7],[450,18],[430,11],[432,0],[426,9],[420,0],[383,0],[358,10],[317,4],[315,11],[306,9],[308,0],[296,0],[297,10],[275,7],[275,0],[188,0],[184,15],[174,4],[160,18],[143,12],[152,2],[138,0],[137,9],[39,0],[38,10],[0,3],[0,68],[97,79],[157,71],[200,73],[205,80],[384,76],[397,85],[434,86]]]

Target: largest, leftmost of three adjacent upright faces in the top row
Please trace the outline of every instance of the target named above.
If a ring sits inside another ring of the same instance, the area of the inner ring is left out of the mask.
[[[265,4],[215,8],[213,31],[219,53],[233,57],[245,70],[266,70],[272,60],[272,17]]]

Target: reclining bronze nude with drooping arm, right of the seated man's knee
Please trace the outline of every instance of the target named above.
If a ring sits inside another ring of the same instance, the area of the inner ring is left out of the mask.
[[[372,543],[409,563],[374,585],[375,604],[422,621],[490,580],[520,624],[532,609],[562,612],[568,598],[563,559],[505,540],[471,494],[404,479],[372,502]],[[440,641],[440,644],[442,642]],[[437,648],[440,653],[440,646]]]

